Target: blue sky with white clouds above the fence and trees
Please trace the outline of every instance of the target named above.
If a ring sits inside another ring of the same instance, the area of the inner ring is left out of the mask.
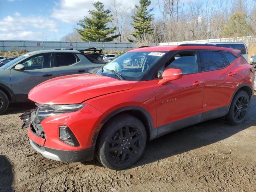
[[[101,0],[106,8],[109,1]],[[0,40],[60,40],[73,31],[80,19],[88,16],[94,2],[96,0],[0,0]],[[128,2],[134,7],[139,0]],[[156,2],[152,1],[152,7]]]

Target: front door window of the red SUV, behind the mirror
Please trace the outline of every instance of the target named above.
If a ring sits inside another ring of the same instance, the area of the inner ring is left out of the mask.
[[[166,69],[168,68],[180,69],[183,74],[196,73],[198,71],[196,52],[180,52],[176,54],[170,64],[166,66]]]

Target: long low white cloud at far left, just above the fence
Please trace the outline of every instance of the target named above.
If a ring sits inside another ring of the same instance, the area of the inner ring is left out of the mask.
[[[25,31],[34,29],[48,29],[50,32],[58,32],[55,21],[42,16],[22,17],[20,13],[14,13],[14,16],[6,16],[0,20],[0,31]]]

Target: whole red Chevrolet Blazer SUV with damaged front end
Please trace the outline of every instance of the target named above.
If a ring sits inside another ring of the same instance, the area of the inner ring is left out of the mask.
[[[127,64],[129,60],[130,64]],[[206,44],[129,50],[93,74],[54,78],[29,93],[21,118],[43,156],[92,160],[124,169],[146,141],[221,116],[241,124],[253,94],[254,68],[240,50]]]

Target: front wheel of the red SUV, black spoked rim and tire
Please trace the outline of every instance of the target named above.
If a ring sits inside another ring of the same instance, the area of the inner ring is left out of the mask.
[[[146,146],[146,130],[131,115],[116,116],[100,133],[96,157],[107,168],[122,170],[138,161]]]

